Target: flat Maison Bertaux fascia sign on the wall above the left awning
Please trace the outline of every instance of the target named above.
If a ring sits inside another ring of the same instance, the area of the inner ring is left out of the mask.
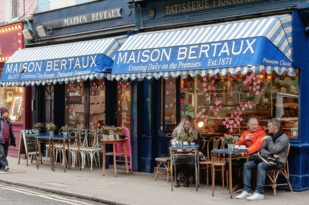
[[[55,21],[50,21],[43,23],[43,26],[48,26],[51,28],[61,28],[66,26],[74,26],[77,24],[91,23],[95,21],[102,21],[111,18],[121,18],[120,14],[121,8],[110,9],[105,11],[99,11],[91,14],[83,14],[79,16],[73,16],[69,18],[62,18]]]

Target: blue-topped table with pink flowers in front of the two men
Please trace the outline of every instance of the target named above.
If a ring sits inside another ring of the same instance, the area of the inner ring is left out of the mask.
[[[247,156],[239,157],[235,156],[232,157],[232,155],[239,154],[239,153],[247,153]],[[214,153],[222,154],[220,156],[214,157]],[[212,196],[214,196],[214,159],[227,159],[229,162],[229,191],[231,193],[231,199],[233,199],[233,193],[232,193],[232,160],[235,159],[243,159],[247,158],[247,162],[249,160],[249,155],[248,155],[248,150],[247,149],[233,149],[233,151],[229,151],[228,148],[226,149],[218,149],[218,150],[212,150],[211,151],[211,162],[212,162],[212,188],[213,188],[213,193]]]

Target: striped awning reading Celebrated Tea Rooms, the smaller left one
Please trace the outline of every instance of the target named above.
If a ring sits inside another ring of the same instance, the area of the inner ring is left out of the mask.
[[[1,86],[111,79],[116,51],[127,35],[16,51],[4,64]]]

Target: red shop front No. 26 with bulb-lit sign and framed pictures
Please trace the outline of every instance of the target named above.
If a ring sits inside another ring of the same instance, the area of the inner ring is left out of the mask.
[[[4,65],[15,51],[23,49],[23,23],[15,23],[0,27],[0,75],[5,75]],[[10,146],[8,155],[18,156],[20,131],[31,124],[26,116],[31,116],[31,87],[2,86],[0,88],[0,107],[7,107],[12,120],[12,128],[16,137],[16,147]]]

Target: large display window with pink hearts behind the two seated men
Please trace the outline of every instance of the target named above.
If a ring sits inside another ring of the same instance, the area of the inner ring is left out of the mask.
[[[268,119],[278,118],[289,137],[298,137],[298,71],[296,74],[250,71],[234,76],[198,76],[193,89],[197,97],[194,117],[204,122],[202,133],[241,135],[247,129],[248,115],[255,114],[262,127],[267,127]]]

